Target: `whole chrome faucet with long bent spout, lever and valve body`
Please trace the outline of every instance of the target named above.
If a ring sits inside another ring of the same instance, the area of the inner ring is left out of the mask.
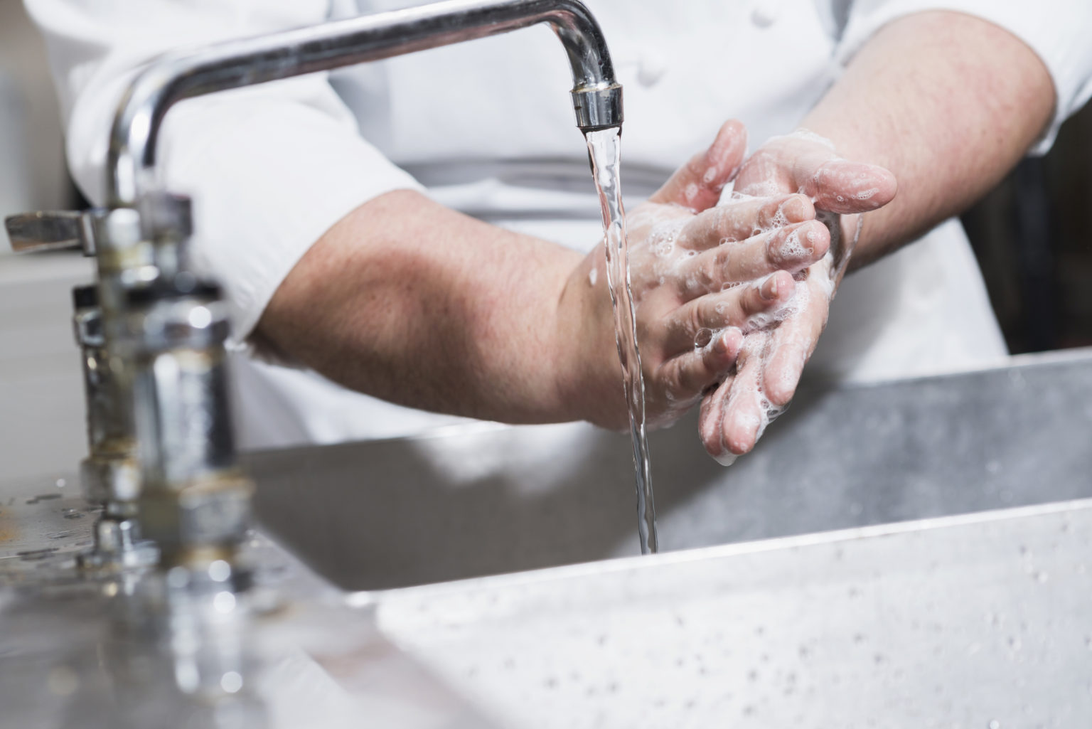
[[[585,133],[619,127],[621,85],[582,2],[446,0],[158,57],[131,82],[115,117],[108,207],[7,221],[15,250],[75,246],[97,259],[105,346],[120,364],[118,397],[131,401],[140,526],[159,546],[161,567],[234,567],[251,491],[232,442],[219,290],[188,270],[189,200],[156,179],[167,111],[195,96],[538,23],[554,30],[568,57],[577,126]]]

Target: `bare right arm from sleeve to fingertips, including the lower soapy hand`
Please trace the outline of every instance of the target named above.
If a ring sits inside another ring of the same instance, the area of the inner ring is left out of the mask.
[[[737,372],[703,401],[710,454],[750,450],[765,415],[793,397],[842,266],[876,260],[974,202],[1026,153],[1054,104],[1052,79],[1023,42],[970,15],[923,12],[878,31],[802,121],[836,153],[790,136],[745,163],[737,190],[806,189],[817,208],[841,214],[834,224],[843,236],[835,255],[810,269],[807,302],[775,328],[748,334]],[[882,165],[898,195],[882,169],[841,157]],[[854,248],[860,197],[887,204],[863,215]]]

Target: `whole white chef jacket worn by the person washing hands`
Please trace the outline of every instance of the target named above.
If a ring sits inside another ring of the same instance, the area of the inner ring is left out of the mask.
[[[166,49],[419,4],[414,0],[25,0],[44,31],[73,176],[100,202],[108,129],[140,62]],[[587,0],[626,90],[622,187],[632,207],[731,117],[752,146],[793,130],[881,25],[951,9],[1043,59],[1058,104],[1037,145],[1092,94],[1088,0]],[[237,340],[308,247],[352,209],[415,188],[581,250],[598,205],[571,78],[545,27],[187,101],[159,171],[193,197],[194,266],[227,293]],[[1006,349],[958,222],[843,283],[810,373],[850,380],[989,364]],[[241,440],[283,446],[402,435],[455,419],[240,357]]]

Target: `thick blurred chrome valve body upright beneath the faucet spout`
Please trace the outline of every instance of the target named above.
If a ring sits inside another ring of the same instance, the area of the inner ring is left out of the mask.
[[[252,485],[236,463],[219,289],[189,273],[127,293],[118,352],[132,377],[144,534],[165,568],[230,562]]]

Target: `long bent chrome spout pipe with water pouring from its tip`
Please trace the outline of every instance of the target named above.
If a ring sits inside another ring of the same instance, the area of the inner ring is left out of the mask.
[[[579,0],[447,0],[207,48],[166,54],[129,86],[107,162],[110,207],[132,207],[154,180],[164,116],[187,98],[376,61],[547,23],[572,69],[583,131],[617,127],[621,86],[598,23]]]

